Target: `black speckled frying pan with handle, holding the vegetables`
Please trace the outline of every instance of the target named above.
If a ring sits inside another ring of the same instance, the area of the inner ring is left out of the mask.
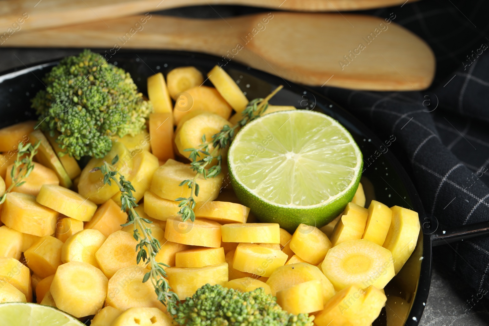
[[[146,93],[146,78],[156,72],[163,72],[166,75],[174,67],[194,65],[205,74],[221,60],[217,57],[188,52],[119,51],[110,62],[130,72],[139,89]],[[57,61],[52,61],[28,68],[22,67],[0,76],[0,128],[24,120],[36,119],[34,111],[30,109],[30,98],[44,87],[41,82],[44,74],[56,64]],[[431,279],[431,246],[489,234],[489,222],[468,225],[457,230],[438,228],[436,220],[426,217],[413,183],[393,152],[389,150],[389,146],[386,147],[386,142],[389,140],[395,143],[392,137],[379,139],[348,111],[307,87],[295,85],[280,77],[234,62],[228,63],[224,68],[234,80],[239,81],[239,86],[249,99],[265,97],[273,88],[283,85],[284,89],[270,101],[271,104],[314,109],[332,116],[352,133],[364,157],[370,157],[380,149],[380,146],[383,146],[382,154],[376,156],[368,166],[365,164],[362,184],[367,197],[366,206],[368,207],[370,200],[375,198],[388,206],[399,205],[412,209],[418,212],[422,229],[411,258],[386,286],[385,292],[388,295],[386,308],[382,310],[373,325],[418,325],[428,297]]]

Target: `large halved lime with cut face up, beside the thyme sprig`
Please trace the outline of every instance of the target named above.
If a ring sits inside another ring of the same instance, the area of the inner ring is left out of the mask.
[[[238,132],[228,152],[231,183],[264,222],[289,232],[321,227],[355,195],[362,154],[332,117],[293,110],[267,114]]]

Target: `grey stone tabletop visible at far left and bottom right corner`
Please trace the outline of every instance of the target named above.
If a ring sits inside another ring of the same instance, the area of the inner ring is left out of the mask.
[[[78,53],[72,49],[18,49],[0,47],[0,73],[14,67]],[[434,268],[430,294],[420,326],[489,326],[489,304],[476,302],[477,292],[464,286],[455,276]],[[480,297],[480,296],[479,296]],[[473,300],[473,307],[467,301]]]

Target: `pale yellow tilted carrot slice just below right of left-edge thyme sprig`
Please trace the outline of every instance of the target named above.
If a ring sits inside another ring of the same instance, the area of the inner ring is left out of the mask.
[[[79,221],[89,221],[97,205],[89,199],[58,185],[43,185],[36,200],[43,206]]]

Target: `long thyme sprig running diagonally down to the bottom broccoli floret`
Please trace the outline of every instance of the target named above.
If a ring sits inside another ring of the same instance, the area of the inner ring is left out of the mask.
[[[135,248],[137,252],[136,263],[139,264],[140,261],[143,261],[146,262],[146,266],[151,267],[151,270],[144,275],[143,283],[151,280],[151,283],[153,283],[153,286],[155,287],[158,300],[167,306],[168,312],[175,315],[177,313],[177,303],[179,302],[178,295],[170,290],[168,282],[165,279],[166,272],[162,267],[170,266],[156,261],[156,254],[158,253],[161,244],[158,239],[152,236],[151,229],[143,223],[153,223],[153,221],[140,217],[134,210],[134,207],[138,206],[133,196],[134,187],[130,181],[126,180],[124,175],[114,169],[114,165],[118,161],[119,156],[115,155],[111,164],[104,161],[100,167],[96,167],[90,172],[100,170],[104,175],[104,184],[111,185],[112,182],[115,182],[117,187],[119,187],[121,192],[121,210],[128,214],[128,222],[121,226],[134,225],[133,237],[136,241],[139,241]]]

